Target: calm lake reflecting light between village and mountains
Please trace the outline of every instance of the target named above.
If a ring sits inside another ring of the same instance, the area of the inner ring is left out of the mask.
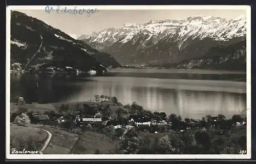
[[[246,109],[246,74],[241,72],[113,69],[104,76],[11,73],[10,77],[12,102],[16,96],[40,103],[88,101],[102,94],[182,118],[231,117]]]

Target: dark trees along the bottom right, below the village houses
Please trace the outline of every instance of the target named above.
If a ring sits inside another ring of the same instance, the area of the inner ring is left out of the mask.
[[[227,143],[224,139],[212,140],[204,130],[171,133],[162,138],[139,138],[135,130],[130,130],[110,154],[239,154],[239,150],[246,150],[245,135],[237,143]]]

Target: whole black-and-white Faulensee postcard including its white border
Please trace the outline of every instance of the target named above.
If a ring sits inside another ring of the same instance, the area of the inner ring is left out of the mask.
[[[7,7],[7,159],[249,159],[250,14]]]

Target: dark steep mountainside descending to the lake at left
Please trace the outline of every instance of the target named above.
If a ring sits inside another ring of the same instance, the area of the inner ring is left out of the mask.
[[[11,11],[11,63],[22,63],[25,68],[48,64],[57,67],[71,66],[82,70],[102,71],[104,54],[52,26],[29,17],[24,13]],[[108,54],[104,58],[109,58]],[[116,65],[119,65],[117,62]]]

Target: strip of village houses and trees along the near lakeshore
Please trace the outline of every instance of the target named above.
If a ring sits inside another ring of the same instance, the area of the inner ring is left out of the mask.
[[[19,104],[25,104],[24,99]],[[37,104],[40,106],[40,104]],[[26,105],[25,105],[26,106]],[[23,112],[28,112],[22,108]],[[12,114],[14,118],[17,114]],[[132,105],[122,105],[116,97],[95,95],[87,103],[61,104],[59,110],[44,113],[28,112],[31,123],[60,126],[67,129],[80,127],[82,130],[97,128],[131,128],[149,133],[185,131],[190,129],[214,128],[218,133],[228,132],[234,126],[246,126],[246,118],[234,115],[226,119],[223,115],[205,116],[201,120],[185,118],[171,114],[167,117],[164,112],[146,111],[142,106],[133,102]],[[11,120],[12,121],[12,120]]]

